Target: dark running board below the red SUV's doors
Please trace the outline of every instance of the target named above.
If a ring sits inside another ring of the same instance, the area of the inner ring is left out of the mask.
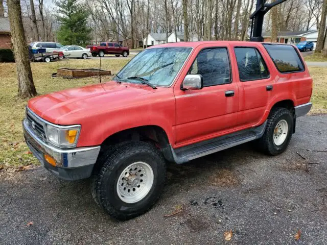
[[[266,124],[267,121],[265,121],[264,124],[259,127],[241,130],[214,139],[208,139],[192,145],[186,145],[177,149],[173,149],[171,147],[174,161],[177,164],[185,163],[254,139],[259,139],[265,132]]]

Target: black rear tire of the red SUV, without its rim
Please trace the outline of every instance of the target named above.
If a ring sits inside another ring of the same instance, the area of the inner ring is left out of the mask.
[[[288,132],[284,142],[281,145],[276,145],[273,140],[274,130],[278,122],[282,119],[286,120],[288,124]],[[290,110],[282,107],[273,108],[267,119],[265,133],[258,141],[259,148],[265,154],[271,156],[283,153],[292,138],[293,127],[293,115]]]

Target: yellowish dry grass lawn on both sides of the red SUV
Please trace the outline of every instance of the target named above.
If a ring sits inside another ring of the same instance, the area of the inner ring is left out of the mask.
[[[102,59],[102,69],[116,74],[130,58]],[[98,77],[83,79],[52,78],[57,68],[99,68],[100,60],[66,60],[50,63],[32,63],[34,83],[38,94],[50,93],[66,88],[99,83]],[[327,68],[310,67],[314,79],[311,113],[327,113]],[[17,98],[16,67],[14,63],[0,63],[0,169],[6,166],[39,164],[25,144],[21,121],[24,118],[27,100]],[[102,81],[110,77],[102,77]]]

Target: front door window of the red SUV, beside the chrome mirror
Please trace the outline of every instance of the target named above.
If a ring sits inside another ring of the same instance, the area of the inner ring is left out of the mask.
[[[204,87],[230,83],[227,48],[217,47],[202,50],[193,62],[189,74],[201,75]]]

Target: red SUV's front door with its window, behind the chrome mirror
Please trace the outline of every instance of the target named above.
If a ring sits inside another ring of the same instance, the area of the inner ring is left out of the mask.
[[[237,123],[239,92],[231,67],[227,46],[204,47],[188,71],[203,77],[203,88],[182,91],[175,86],[177,146],[232,131]]]

